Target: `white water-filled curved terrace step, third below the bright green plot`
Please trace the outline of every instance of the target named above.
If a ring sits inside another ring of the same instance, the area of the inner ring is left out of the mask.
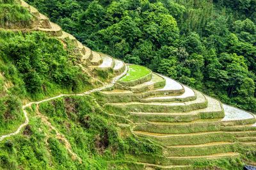
[[[163,96],[163,97],[150,97],[150,98],[143,98],[141,102],[173,102],[173,101],[182,101],[187,102],[189,100],[195,100],[196,95],[193,89],[184,86],[184,93],[179,96]]]

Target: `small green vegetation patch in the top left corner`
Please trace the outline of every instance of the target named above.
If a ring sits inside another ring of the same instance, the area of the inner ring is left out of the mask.
[[[31,26],[32,15],[14,0],[1,0],[0,11],[0,27],[20,28]]]

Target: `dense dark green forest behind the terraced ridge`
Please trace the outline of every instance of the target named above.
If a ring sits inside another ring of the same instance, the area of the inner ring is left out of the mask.
[[[255,0],[27,0],[92,48],[255,111]]]

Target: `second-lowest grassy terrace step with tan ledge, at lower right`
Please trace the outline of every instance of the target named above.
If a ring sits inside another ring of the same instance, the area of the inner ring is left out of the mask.
[[[234,151],[232,142],[214,142],[205,144],[177,145],[164,148],[165,157],[203,156],[217,153],[227,153]]]

